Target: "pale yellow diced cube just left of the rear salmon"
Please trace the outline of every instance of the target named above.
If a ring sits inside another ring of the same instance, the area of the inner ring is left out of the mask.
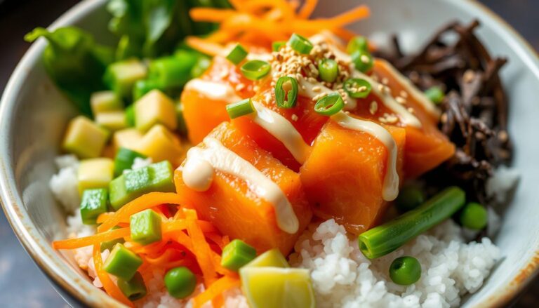
[[[139,130],[147,131],[157,123],[175,130],[175,106],[163,92],[152,90],[135,102],[135,126]]]

